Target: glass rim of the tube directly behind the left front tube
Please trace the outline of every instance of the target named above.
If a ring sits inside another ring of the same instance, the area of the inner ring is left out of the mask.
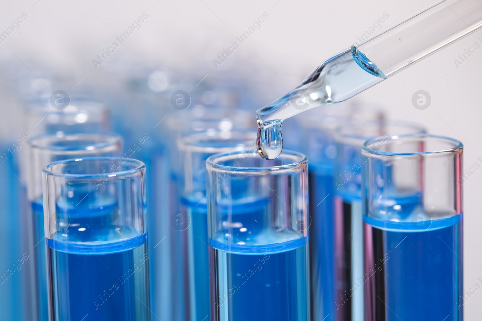
[[[57,146],[52,142],[59,141],[78,141],[78,140],[92,139],[91,144],[72,145],[72,146]],[[94,142],[95,141],[95,142]],[[122,136],[114,133],[102,133],[102,134],[88,134],[77,133],[58,136],[56,134],[42,134],[29,141],[29,145],[32,148],[51,151],[51,152],[79,152],[79,151],[99,151],[107,152],[109,149],[115,147],[117,144],[122,144]]]

